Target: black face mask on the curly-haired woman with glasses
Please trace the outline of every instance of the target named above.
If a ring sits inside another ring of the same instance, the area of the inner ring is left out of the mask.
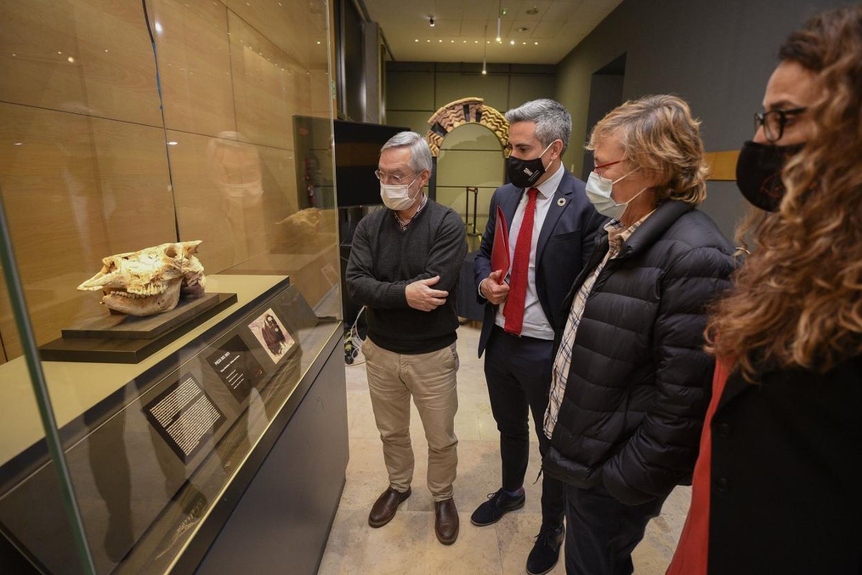
[[[787,159],[799,153],[805,144],[775,146],[746,141],[736,160],[736,187],[759,209],[778,211],[784,197],[781,170]]]

